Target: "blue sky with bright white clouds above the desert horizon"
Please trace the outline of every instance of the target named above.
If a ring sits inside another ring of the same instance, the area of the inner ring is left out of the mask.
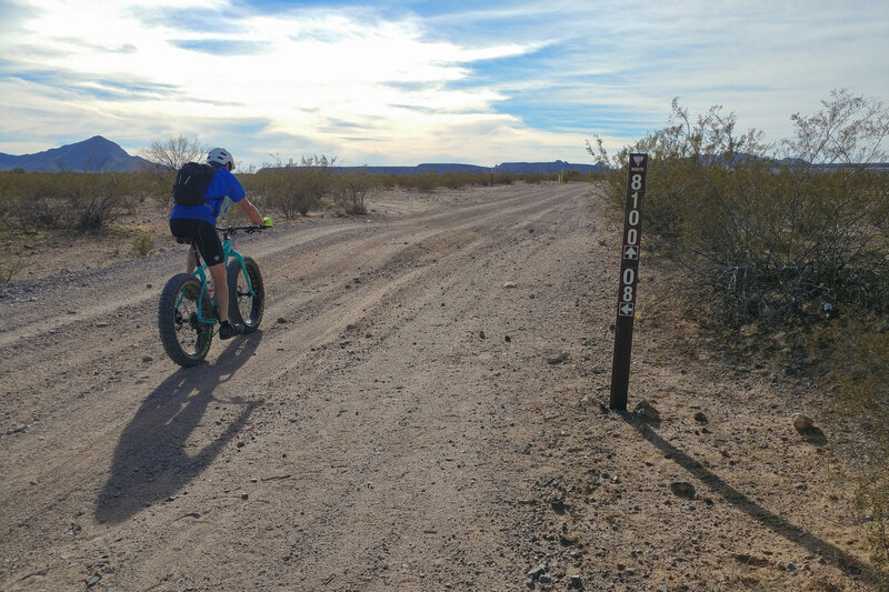
[[[592,162],[679,98],[769,141],[889,102],[889,2],[0,0],[0,152],[174,136],[239,167]]]

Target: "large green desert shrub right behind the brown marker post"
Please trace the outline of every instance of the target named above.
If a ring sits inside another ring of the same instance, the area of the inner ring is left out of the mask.
[[[825,304],[886,312],[889,175],[867,167],[883,155],[889,119],[845,92],[823,104],[793,116],[795,139],[763,146],[755,130],[736,134],[733,113],[717,107],[692,122],[675,101],[671,126],[616,159],[649,153],[649,248],[673,258],[729,328],[810,322]],[[609,181],[615,204],[625,199],[620,177]]]

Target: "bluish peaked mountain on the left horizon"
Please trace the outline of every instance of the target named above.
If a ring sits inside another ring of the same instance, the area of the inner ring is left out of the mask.
[[[36,154],[14,155],[0,152],[0,170],[136,172],[147,168],[153,168],[153,164],[142,158],[129,155],[126,150],[101,136]]]

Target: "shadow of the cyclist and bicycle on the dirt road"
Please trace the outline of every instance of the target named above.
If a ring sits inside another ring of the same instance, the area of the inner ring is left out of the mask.
[[[216,363],[178,370],[146,398],[114,449],[111,475],[97,500],[99,522],[123,522],[139,510],[167,500],[200,474],[240,432],[263,401],[222,401],[213,397],[213,391],[253,355],[261,340],[261,332],[236,339]],[[211,442],[197,453],[188,452],[186,443],[212,401],[242,409]]]

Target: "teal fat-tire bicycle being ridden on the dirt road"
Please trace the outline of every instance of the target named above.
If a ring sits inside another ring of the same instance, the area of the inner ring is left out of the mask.
[[[249,257],[234,250],[238,232],[251,234],[268,227],[217,227],[222,233],[222,252],[226,261],[226,281],[229,289],[229,320],[241,323],[244,333],[259,329],[266,310],[266,291],[259,265]],[[198,268],[192,273],[177,273],[167,282],[158,302],[158,330],[163,351],[170,360],[183,368],[197,365],[210,351],[219,323],[216,300],[210,299],[207,263],[201,263],[200,252],[188,239],[178,242],[191,244]]]

